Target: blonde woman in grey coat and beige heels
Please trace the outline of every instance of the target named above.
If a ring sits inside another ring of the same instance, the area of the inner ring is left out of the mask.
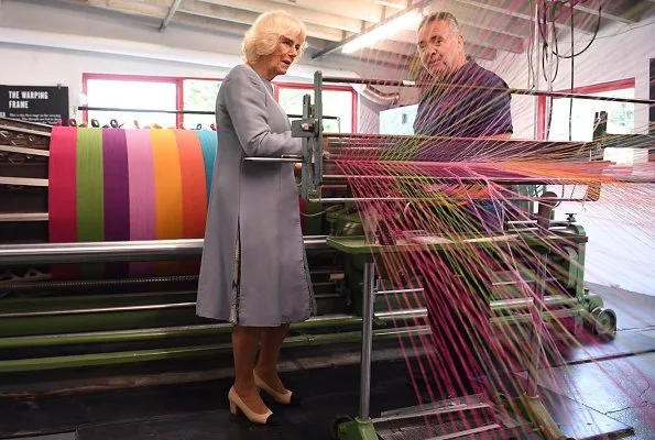
[[[260,389],[279,404],[299,402],[280,380],[277,358],[290,323],[314,315],[316,302],[293,165],[244,158],[302,154],[271,80],[299,58],[305,35],[304,24],[285,12],[260,15],[243,40],[245,63],[230,70],[216,102],[219,146],[197,314],[233,324],[230,411],[265,425],[275,418]]]

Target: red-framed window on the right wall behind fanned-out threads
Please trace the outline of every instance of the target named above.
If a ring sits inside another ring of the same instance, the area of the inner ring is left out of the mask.
[[[567,92],[567,90],[563,90]],[[599,84],[574,89],[576,94],[610,98],[634,98],[634,79]],[[542,98],[543,99],[543,98]],[[553,114],[548,139],[569,140],[569,98],[553,99]],[[574,99],[571,114],[571,140],[588,142],[593,138],[593,122],[597,112],[608,112],[608,133],[634,133],[634,103]]]

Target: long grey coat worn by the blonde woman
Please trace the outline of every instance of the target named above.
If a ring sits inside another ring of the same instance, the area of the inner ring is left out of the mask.
[[[272,94],[271,82],[240,65],[216,102],[219,142],[196,311],[240,326],[299,322],[316,310],[293,165],[243,161],[302,154]]]

